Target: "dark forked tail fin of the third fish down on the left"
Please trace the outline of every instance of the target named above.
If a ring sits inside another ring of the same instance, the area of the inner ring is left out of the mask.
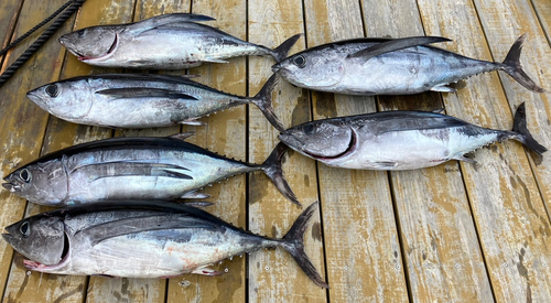
[[[276,187],[290,199],[292,203],[302,206],[296,195],[294,195],[291,186],[287,183],[285,177],[283,176],[283,170],[281,169],[281,159],[285,154],[287,145],[280,142],[276,149],[273,149],[272,153],[268,159],[262,163],[262,170],[266,175],[273,182]]]

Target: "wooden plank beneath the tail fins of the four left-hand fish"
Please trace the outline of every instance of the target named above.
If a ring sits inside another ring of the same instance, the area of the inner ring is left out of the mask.
[[[249,41],[276,47],[285,39],[304,30],[300,1],[249,1]],[[304,48],[300,40],[291,53]],[[271,75],[273,59],[249,57],[249,90],[257,91]],[[273,100],[276,112],[284,126],[310,119],[307,93],[281,80]],[[279,142],[278,131],[268,123],[257,108],[249,107],[249,161],[261,163]],[[314,162],[289,156],[283,162],[283,174],[304,207],[317,196]],[[287,201],[264,175],[249,176],[249,229],[256,234],[282,237],[303,208]],[[324,275],[320,213],[316,212],[305,232],[306,255]],[[312,228],[314,226],[315,228]],[[258,251],[249,258],[250,302],[325,302],[326,292],[316,286],[282,249]]]

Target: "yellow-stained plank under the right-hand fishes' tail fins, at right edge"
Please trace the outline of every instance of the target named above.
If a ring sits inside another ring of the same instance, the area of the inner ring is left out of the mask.
[[[475,6],[482,15],[480,22],[494,59],[503,61],[512,42],[522,33],[527,33],[521,56],[522,68],[548,91],[545,94],[529,91],[505,73],[499,73],[499,77],[511,111],[515,111],[521,102],[526,102],[528,128],[536,140],[548,149],[551,148],[551,93],[549,90],[551,89],[549,83],[551,66],[542,64],[551,62],[551,47],[532,10],[531,1],[484,0],[475,1]],[[494,11],[505,13],[494,19]],[[529,158],[549,215],[551,210],[551,158],[538,158],[531,153]]]

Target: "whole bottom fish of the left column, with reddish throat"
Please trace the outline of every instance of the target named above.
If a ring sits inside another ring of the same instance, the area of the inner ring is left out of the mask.
[[[282,247],[314,283],[328,288],[304,252],[303,235],[316,209],[317,203],[309,206],[281,239],[170,202],[105,202],[56,209],[12,224],[2,236],[30,259],[23,263],[31,270],[125,278],[214,275],[219,272],[208,268],[213,263]]]

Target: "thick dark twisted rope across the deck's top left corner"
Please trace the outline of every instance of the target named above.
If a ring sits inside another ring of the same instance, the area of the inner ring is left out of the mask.
[[[0,87],[21,67],[44,42],[46,42],[62,25],[63,23],[83,4],[86,0],[76,0],[60,18],[57,18],[50,28],[47,28],[36,41],[26,48],[26,51],[13,62],[10,67],[0,76]]]

